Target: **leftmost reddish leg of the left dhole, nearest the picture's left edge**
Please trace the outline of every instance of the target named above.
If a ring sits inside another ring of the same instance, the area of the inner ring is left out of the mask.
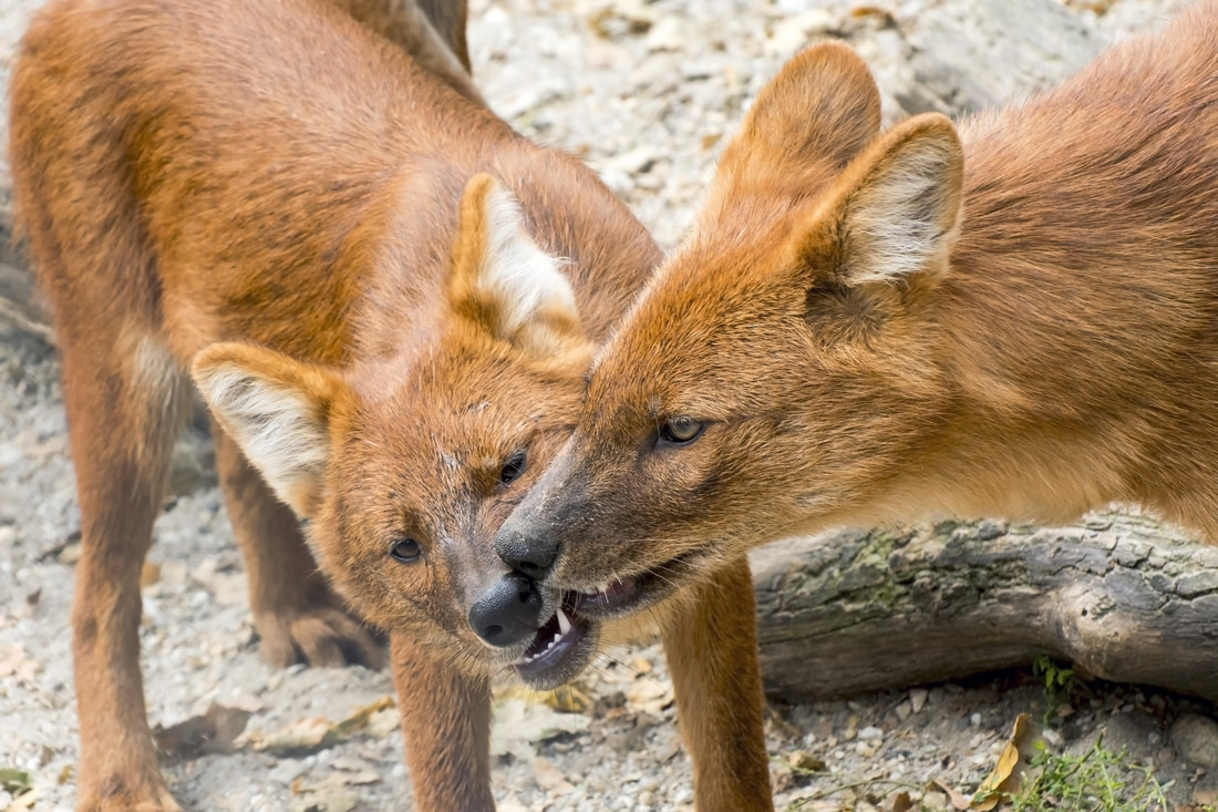
[[[140,675],[140,569],[160,512],[185,380],[155,339],[65,345],[80,502],[72,656],[80,717],[77,808],[178,810],[157,767]]]

